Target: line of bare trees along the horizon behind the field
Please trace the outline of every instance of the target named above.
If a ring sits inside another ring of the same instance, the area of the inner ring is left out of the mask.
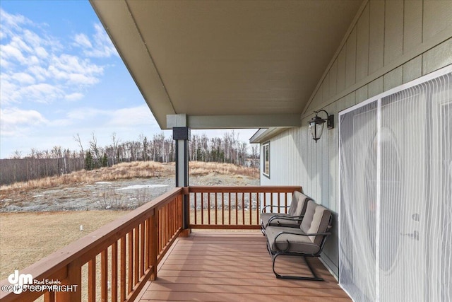
[[[23,156],[20,151],[11,158],[0,159],[0,185],[9,185],[44,178],[64,175],[77,170],[93,170],[112,166],[117,163],[132,161],[156,161],[160,163],[174,162],[175,143],[172,136],[165,137],[162,132],[152,139],[141,134],[136,141],[124,141],[112,134],[111,144],[100,146],[93,133],[88,148],[84,147],[80,135],[73,139],[79,150],[63,149],[54,146],[52,149],[31,149]],[[206,134],[192,134],[189,140],[189,160],[234,163],[236,165],[258,166],[258,146],[240,141],[234,132],[225,133],[222,137],[208,138]]]

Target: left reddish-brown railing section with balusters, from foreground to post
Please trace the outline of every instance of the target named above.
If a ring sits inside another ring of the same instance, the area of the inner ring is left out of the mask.
[[[2,281],[1,301],[133,301],[182,231],[183,192],[174,189],[23,271],[44,284],[14,294]]]

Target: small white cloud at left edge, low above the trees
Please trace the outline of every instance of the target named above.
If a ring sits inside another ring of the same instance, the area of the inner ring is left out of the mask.
[[[0,109],[1,136],[20,137],[48,121],[36,110]]]

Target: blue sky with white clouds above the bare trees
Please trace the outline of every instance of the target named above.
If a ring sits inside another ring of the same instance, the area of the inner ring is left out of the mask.
[[[192,130],[222,136],[226,130]],[[236,129],[248,141],[256,129]],[[0,158],[162,133],[88,1],[0,1]],[[166,137],[172,132],[163,131]]]

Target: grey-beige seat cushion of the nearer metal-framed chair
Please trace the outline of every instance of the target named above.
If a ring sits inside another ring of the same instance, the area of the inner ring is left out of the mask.
[[[276,236],[281,232],[290,232],[303,234],[304,232],[299,228],[287,228],[281,226],[268,226],[266,228],[266,236],[269,243],[269,248],[272,252],[280,252],[281,250],[286,250],[289,247],[287,252],[304,252],[306,254],[316,254],[319,252],[320,247],[313,243],[309,236],[299,236],[292,234],[283,234],[278,236],[278,239],[275,241]],[[289,240],[290,244],[287,243]]]

